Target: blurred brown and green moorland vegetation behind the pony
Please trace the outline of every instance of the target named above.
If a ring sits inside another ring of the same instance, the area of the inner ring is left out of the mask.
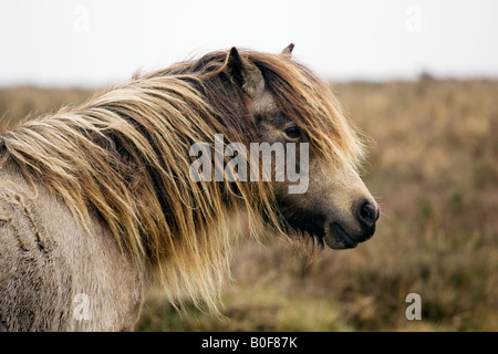
[[[498,331],[498,82],[335,84],[374,144],[363,176],[382,216],[366,243],[308,259],[241,241],[219,319],[152,292],[137,331]],[[54,112],[84,90],[0,90],[0,122]],[[422,320],[408,321],[408,293]]]

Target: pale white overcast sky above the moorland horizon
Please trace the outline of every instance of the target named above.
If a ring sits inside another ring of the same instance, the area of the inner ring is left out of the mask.
[[[232,45],[332,81],[498,77],[498,1],[0,0],[0,86],[105,86]]]

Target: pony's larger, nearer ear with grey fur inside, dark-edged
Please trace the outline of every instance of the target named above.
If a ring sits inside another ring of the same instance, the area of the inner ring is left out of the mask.
[[[261,94],[264,91],[264,79],[258,66],[242,58],[235,46],[227,55],[227,71],[235,83],[251,98]]]

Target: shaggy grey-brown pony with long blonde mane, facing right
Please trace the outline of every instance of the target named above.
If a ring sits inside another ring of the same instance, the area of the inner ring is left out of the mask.
[[[365,137],[292,49],[209,52],[1,134],[0,330],[132,331],[157,284],[177,306],[219,313],[242,217],[256,237],[313,248],[370,239],[380,209],[359,177]],[[190,147],[215,136],[247,150],[307,144],[294,167],[309,188],[194,180]]]

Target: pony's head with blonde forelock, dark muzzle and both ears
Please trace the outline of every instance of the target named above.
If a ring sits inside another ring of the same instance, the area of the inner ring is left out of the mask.
[[[271,55],[232,48],[225,71],[243,92],[252,139],[283,148],[280,155],[274,149],[270,178],[281,230],[333,249],[353,248],[374,235],[380,216],[357,173],[363,139],[329,85],[292,60],[292,49]],[[307,179],[299,181],[302,188],[295,188],[289,169]]]

